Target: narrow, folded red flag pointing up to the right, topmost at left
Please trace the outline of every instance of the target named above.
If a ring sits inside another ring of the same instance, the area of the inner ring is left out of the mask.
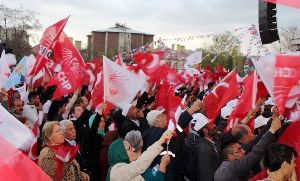
[[[69,17],[49,26],[43,33],[39,44],[39,52],[36,56],[36,63],[31,70],[31,75],[36,75],[45,65],[47,60],[53,56],[53,49],[60,37]]]

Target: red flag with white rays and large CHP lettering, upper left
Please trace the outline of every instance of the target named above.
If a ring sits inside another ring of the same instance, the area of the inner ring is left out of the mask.
[[[62,70],[49,81],[57,85],[53,99],[70,94],[84,84],[85,63],[66,34],[62,33],[56,46],[55,57],[61,60]]]

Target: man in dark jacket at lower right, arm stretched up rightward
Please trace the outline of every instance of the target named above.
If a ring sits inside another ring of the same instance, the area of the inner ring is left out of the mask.
[[[253,147],[250,153],[245,155],[245,150],[238,142],[228,143],[222,150],[223,162],[216,170],[215,181],[243,181],[251,176],[252,167],[262,158],[269,144],[275,142],[275,132],[281,127],[281,121],[277,118]]]

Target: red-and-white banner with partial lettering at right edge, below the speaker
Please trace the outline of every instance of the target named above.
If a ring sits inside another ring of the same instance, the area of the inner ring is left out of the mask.
[[[283,115],[285,108],[292,108],[300,97],[300,56],[268,55],[253,64]]]

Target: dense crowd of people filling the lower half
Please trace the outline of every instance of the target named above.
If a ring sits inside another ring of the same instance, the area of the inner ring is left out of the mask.
[[[259,100],[227,130],[232,101],[215,122],[205,116],[202,100],[214,85],[202,91],[189,84],[178,89],[177,96],[187,95],[178,119],[182,132],[168,130],[166,108],[155,105],[153,87],[109,113],[106,102],[92,106],[86,86],[59,100],[52,100],[54,88],[43,84],[28,86],[25,96],[2,90],[0,102],[29,129],[39,120],[37,164],[55,181],[242,181],[262,169],[266,181],[297,180],[297,152],[275,143],[288,123],[271,99]],[[251,119],[254,130],[247,125]]]

